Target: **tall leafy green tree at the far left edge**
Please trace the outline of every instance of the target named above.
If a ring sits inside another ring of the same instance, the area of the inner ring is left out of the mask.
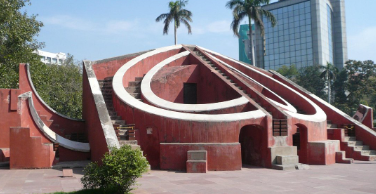
[[[38,35],[42,22],[21,11],[29,0],[0,0],[0,88],[18,87],[18,64],[39,62],[33,51],[42,48]]]

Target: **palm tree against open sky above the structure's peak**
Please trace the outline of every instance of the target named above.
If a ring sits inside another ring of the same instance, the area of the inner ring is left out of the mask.
[[[168,29],[170,27],[170,23],[174,21],[174,34],[175,34],[175,45],[177,44],[177,35],[176,30],[179,28],[180,23],[182,22],[188,28],[188,34],[192,34],[191,25],[189,22],[192,22],[192,12],[189,10],[183,9],[185,5],[188,4],[188,0],[178,0],[178,1],[170,1],[168,4],[170,8],[169,13],[161,14],[160,16],[155,19],[156,22],[159,22],[164,19],[164,28],[163,34],[168,34]]]

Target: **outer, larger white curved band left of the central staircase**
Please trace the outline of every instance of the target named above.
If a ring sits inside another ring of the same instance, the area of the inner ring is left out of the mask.
[[[154,115],[160,115],[166,118],[172,118],[177,120],[188,120],[188,121],[212,121],[212,122],[229,122],[229,121],[239,121],[239,120],[246,120],[246,119],[257,119],[265,117],[266,114],[261,110],[249,111],[249,112],[242,112],[242,113],[233,113],[233,114],[218,114],[218,115],[209,115],[209,114],[193,114],[193,113],[182,113],[182,112],[175,112],[171,110],[165,110],[162,108],[157,108],[155,106],[148,105],[146,103],[140,102],[133,96],[131,96],[123,86],[123,77],[125,73],[138,62],[159,54],[163,52],[167,52],[170,50],[180,49],[182,45],[175,45],[169,47],[159,48],[145,54],[142,54],[126,64],[124,64],[115,74],[112,86],[113,90],[122,102],[126,103],[128,106],[132,106],[144,112]]]

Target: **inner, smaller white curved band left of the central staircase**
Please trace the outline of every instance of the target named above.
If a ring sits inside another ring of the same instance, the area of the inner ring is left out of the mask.
[[[168,109],[168,110],[175,110],[175,111],[181,111],[181,112],[202,112],[202,111],[213,111],[213,110],[231,108],[235,106],[244,105],[249,102],[247,98],[245,98],[244,96],[241,96],[240,98],[237,98],[237,99],[224,101],[224,102],[218,102],[218,103],[182,104],[182,103],[170,102],[155,95],[155,93],[151,89],[151,81],[152,81],[153,76],[160,69],[162,69],[164,66],[168,65],[172,61],[186,57],[189,54],[190,54],[189,51],[185,51],[175,56],[172,56],[170,58],[167,58],[164,61],[158,63],[156,66],[154,66],[145,75],[144,79],[141,82],[141,93],[151,104],[164,108],[164,109]]]

